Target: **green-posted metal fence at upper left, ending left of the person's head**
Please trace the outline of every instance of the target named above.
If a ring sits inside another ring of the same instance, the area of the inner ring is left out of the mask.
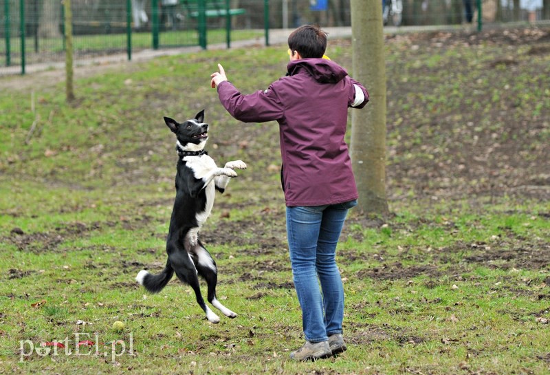
[[[233,8],[227,0],[72,0],[74,58],[131,58],[132,52],[150,48],[206,48],[256,38],[264,34],[267,3],[241,1],[244,7]],[[63,61],[63,8],[59,0],[0,0],[0,74]]]

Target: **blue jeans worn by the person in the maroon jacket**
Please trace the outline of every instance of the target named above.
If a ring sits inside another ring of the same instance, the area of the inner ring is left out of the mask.
[[[327,341],[342,333],[344,288],[336,244],[357,200],[326,206],[287,207],[287,237],[305,339]]]

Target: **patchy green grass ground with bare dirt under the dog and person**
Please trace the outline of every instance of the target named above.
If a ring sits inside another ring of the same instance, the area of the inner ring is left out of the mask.
[[[392,215],[352,211],[338,248],[349,350],[316,363],[288,357],[303,337],[277,125],[233,120],[208,87],[221,62],[243,92],[265,88],[284,73],[284,48],[104,67],[77,79],[74,105],[51,72],[2,78],[0,372],[547,374],[550,206],[536,186],[546,181],[549,57],[460,34],[434,47],[438,37],[387,41]],[[334,41],[329,56],[350,67],[350,51]],[[491,64],[510,54],[521,73],[503,76]],[[492,89],[505,85],[513,98]],[[162,116],[202,108],[210,154],[249,166],[202,233],[219,299],[239,313],[218,325],[188,286],[151,295],[133,280],[164,265],[175,152]],[[86,340],[94,345],[77,353]],[[52,341],[66,347],[40,346]]]

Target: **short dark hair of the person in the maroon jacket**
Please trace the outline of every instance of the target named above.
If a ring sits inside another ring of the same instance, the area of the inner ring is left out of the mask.
[[[327,50],[327,33],[318,25],[300,26],[289,35],[288,47],[302,58],[322,58]]]

